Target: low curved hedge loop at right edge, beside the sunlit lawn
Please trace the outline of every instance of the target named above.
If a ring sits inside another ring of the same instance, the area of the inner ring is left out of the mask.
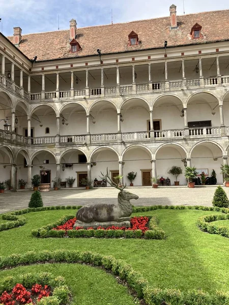
[[[216,220],[229,220],[229,214],[226,215],[207,215],[202,216],[197,220],[197,227],[204,232],[210,234],[218,234],[229,238],[229,228],[226,226],[219,226],[215,224],[210,224]]]

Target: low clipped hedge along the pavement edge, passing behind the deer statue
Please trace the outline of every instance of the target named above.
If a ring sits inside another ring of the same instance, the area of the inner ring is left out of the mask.
[[[58,209],[79,209],[81,205],[57,205],[57,206],[43,206],[43,207],[32,207],[32,208],[24,208],[21,210],[16,210],[13,212],[8,212],[5,214],[2,214],[2,219],[4,220],[11,220],[12,222],[7,222],[0,224],[0,232],[13,229],[16,227],[23,226],[26,223],[26,219],[24,217],[19,217],[20,215],[31,213],[31,212],[40,212],[40,211],[46,211],[46,210],[58,210]],[[217,211],[217,212],[223,212],[225,214],[229,214],[229,208],[225,207],[212,207],[212,206],[201,206],[201,205],[195,205],[195,206],[184,206],[184,205],[151,205],[151,206],[140,206],[135,207],[133,206],[133,213],[138,212],[147,212],[147,211],[153,211],[157,209],[197,209],[197,210],[205,210],[205,211]]]

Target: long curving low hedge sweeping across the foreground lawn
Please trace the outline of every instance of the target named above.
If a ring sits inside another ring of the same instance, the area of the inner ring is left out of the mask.
[[[127,283],[128,288],[133,290],[139,299],[144,299],[148,305],[228,305],[229,303],[228,292],[216,291],[215,294],[210,294],[203,290],[182,292],[178,289],[154,288],[140,272],[135,271],[126,262],[90,251],[30,251],[25,254],[0,257],[1,270],[36,263],[81,263],[102,267],[110,271],[115,278],[118,276],[124,284]]]

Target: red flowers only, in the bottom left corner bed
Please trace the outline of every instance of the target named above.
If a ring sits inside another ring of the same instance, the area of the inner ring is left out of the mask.
[[[42,287],[39,284],[33,285],[32,289],[26,290],[21,284],[16,284],[12,289],[12,293],[4,291],[0,296],[0,303],[4,305],[19,305],[19,304],[36,304],[44,296],[49,296],[50,289],[47,285]]]

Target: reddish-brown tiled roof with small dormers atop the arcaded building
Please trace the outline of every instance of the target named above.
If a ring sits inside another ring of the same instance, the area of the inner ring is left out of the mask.
[[[165,40],[168,47],[229,40],[229,10],[177,16],[177,21],[178,28],[173,30],[170,17],[77,28],[76,40],[82,48],[77,54],[70,52],[69,29],[22,35],[18,48],[28,58],[37,55],[40,61],[98,55],[97,49],[109,54],[161,48]],[[201,39],[190,38],[195,23],[202,26]],[[128,46],[132,31],[138,35],[139,45]],[[13,41],[12,36],[8,39]]]

